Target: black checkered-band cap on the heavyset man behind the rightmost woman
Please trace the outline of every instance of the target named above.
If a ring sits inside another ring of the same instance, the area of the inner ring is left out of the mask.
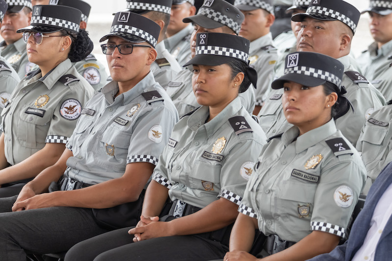
[[[360,16],[357,8],[343,0],[311,0],[306,13],[296,14],[291,20],[301,22],[305,17],[326,21],[339,20],[355,33]]]

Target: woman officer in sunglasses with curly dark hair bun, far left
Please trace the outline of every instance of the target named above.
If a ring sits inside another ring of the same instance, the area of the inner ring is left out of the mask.
[[[72,7],[37,5],[31,25],[18,30],[39,70],[26,75],[1,113],[0,197],[18,194],[26,180],[59,159],[84,103],[94,95],[71,64],[93,47],[79,31],[80,17]]]

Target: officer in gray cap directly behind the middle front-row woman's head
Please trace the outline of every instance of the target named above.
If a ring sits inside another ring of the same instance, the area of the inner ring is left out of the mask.
[[[220,19],[222,15],[225,15],[227,19]],[[205,1],[195,16],[184,19],[185,23],[193,23],[194,25],[194,31],[191,36],[192,57],[196,54],[197,33],[219,32],[238,35],[243,21],[244,15],[232,4],[224,0]],[[187,66],[169,82],[166,88],[180,117],[200,106],[192,90],[192,73],[192,67]],[[255,106],[253,88],[248,88],[248,90],[239,94],[239,96],[245,109],[249,114],[252,114]]]

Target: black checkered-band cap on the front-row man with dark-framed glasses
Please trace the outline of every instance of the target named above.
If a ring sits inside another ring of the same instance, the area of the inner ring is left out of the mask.
[[[114,16],[110,33],[102,37],[99,42],[110,36],[118,36],[126,41],[141,43],[147,41],[155,48],[161,27],[154,21],[132,12],[118,12]]]

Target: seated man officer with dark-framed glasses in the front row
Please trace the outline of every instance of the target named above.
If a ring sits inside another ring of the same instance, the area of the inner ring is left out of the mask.
[[[66,251],[113,229],[119,218],[136,224],[140,216],[130,206],[140,207],[178,114],[150,72],[159,25],[119,12],[111,28],[101,41],[108,39],[102,51],[113,81],[84,106],[57,163],[25,185],[18,198],[0,199],[2,261],[25,261],[26,252]],[[123,216],[115,206],[123,206]]]

